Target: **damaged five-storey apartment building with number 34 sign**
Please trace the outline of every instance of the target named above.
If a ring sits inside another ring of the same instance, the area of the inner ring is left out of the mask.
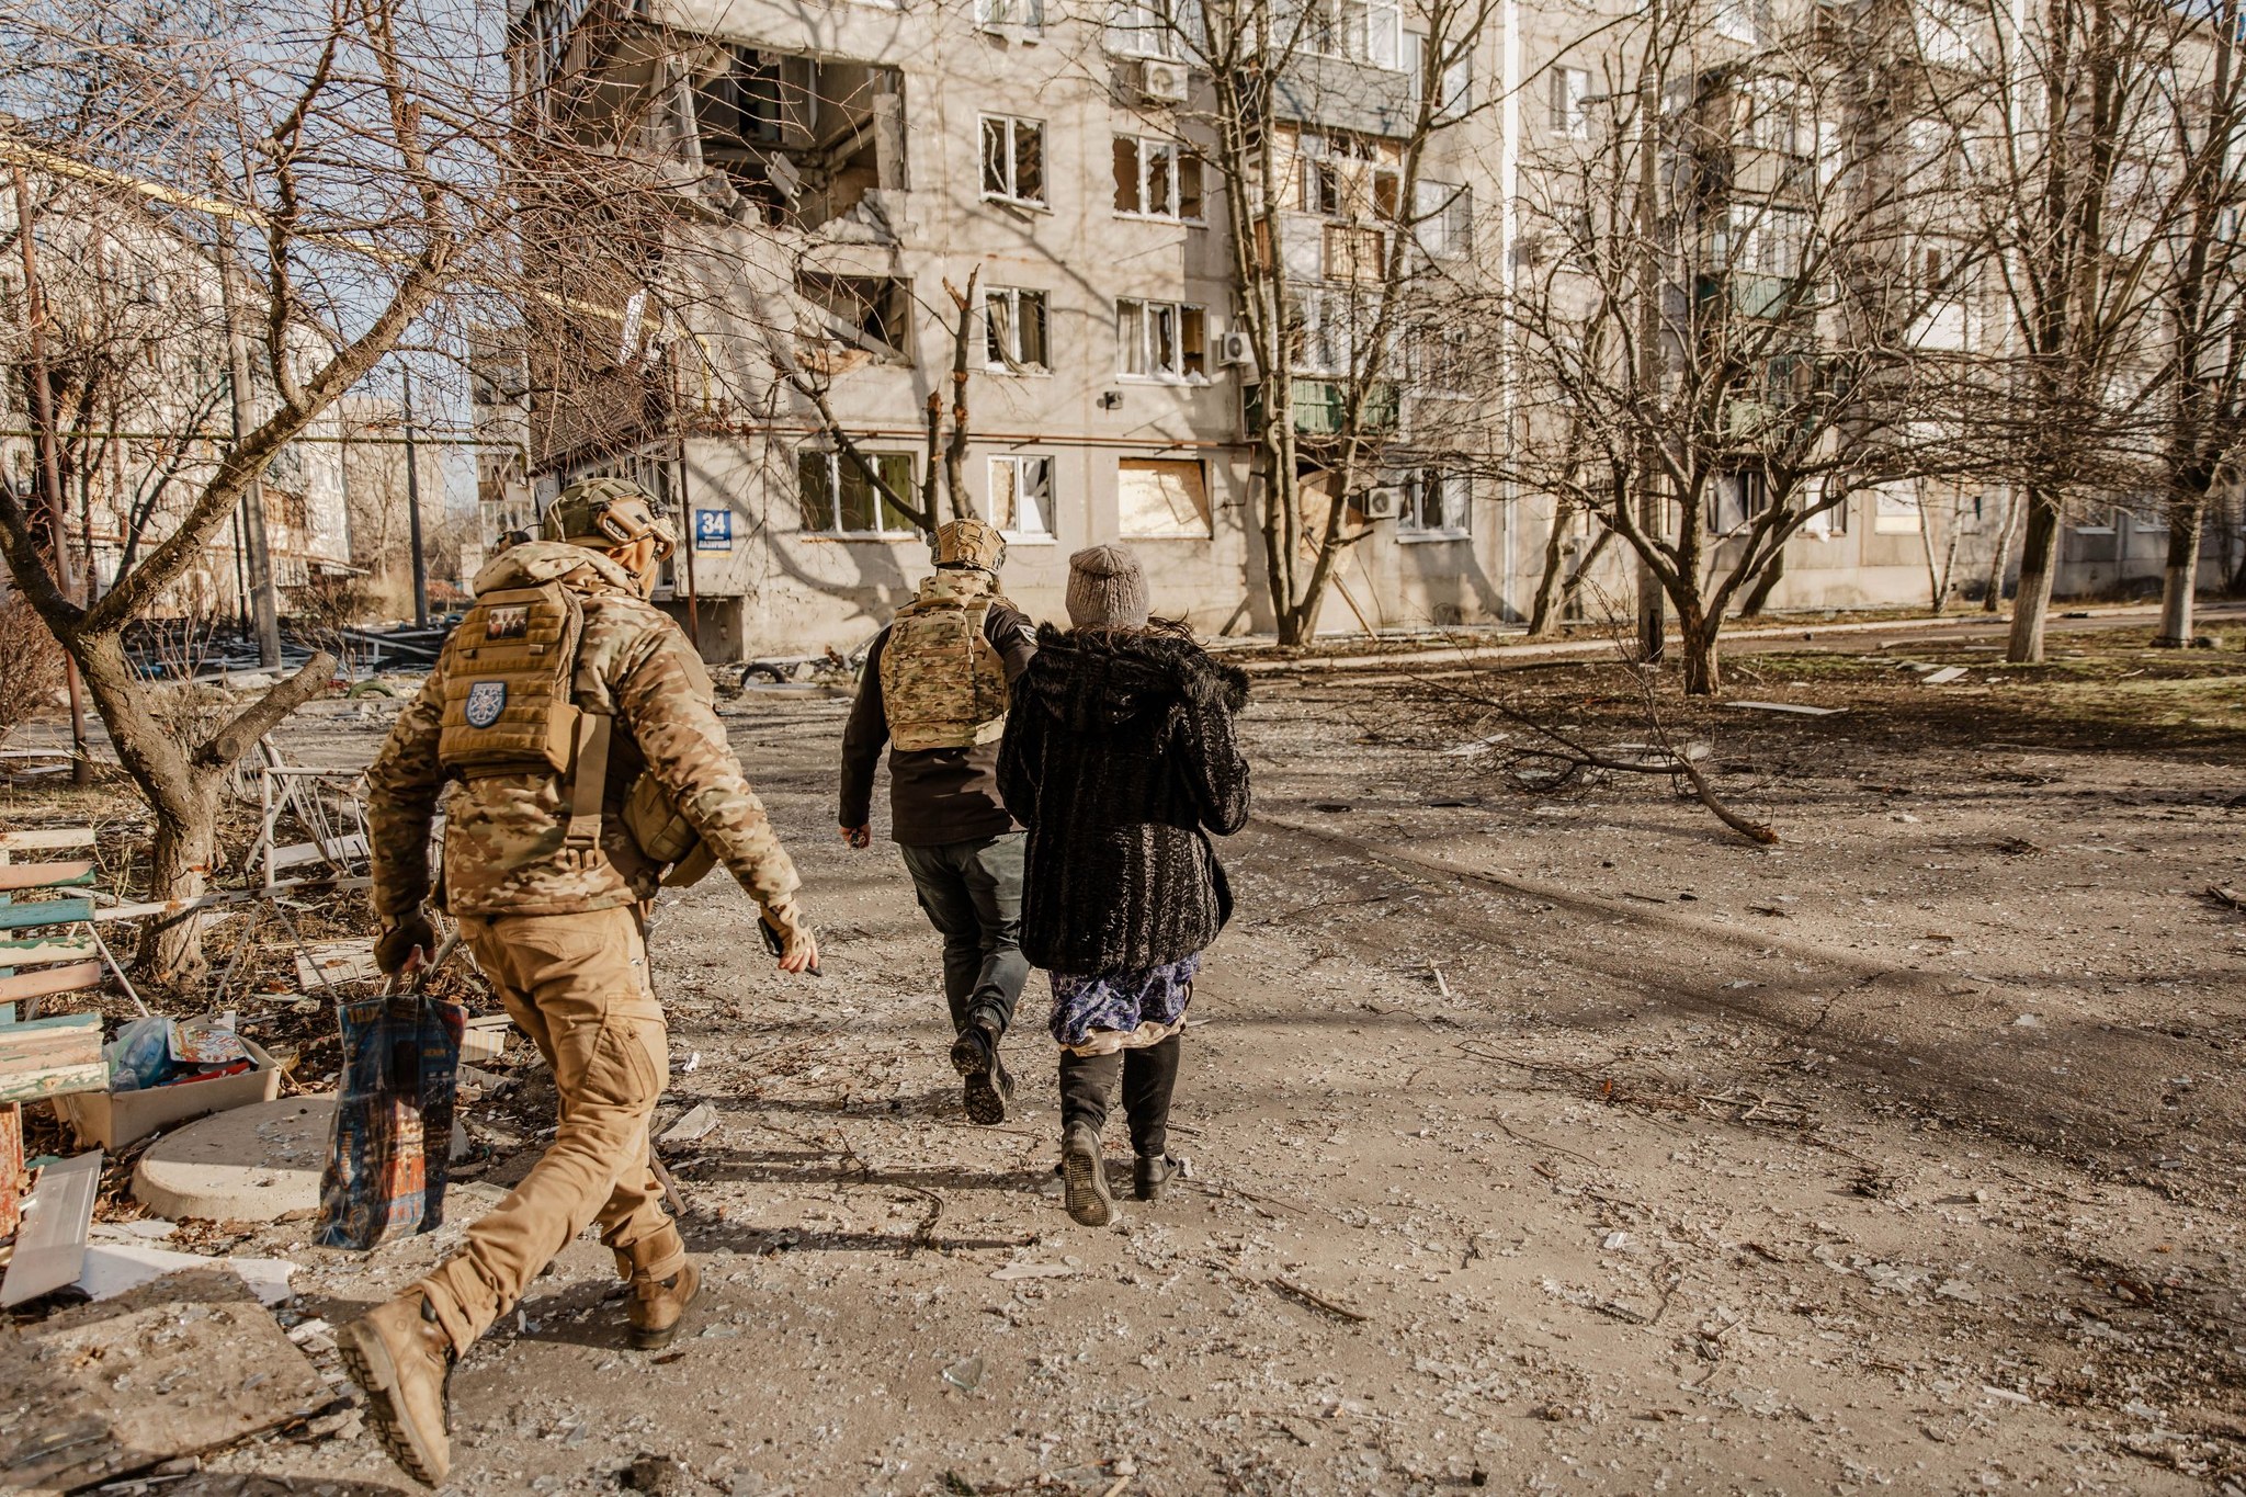
[[[609,299],[613,321],[568,346],[530,337],[512,355],[523,368],[487,379],[526,391],[483,413],[528,433],[539,503],[595,474],[660,492],[687,539],[667,595],[712,660],[847,651],[910,597],[928,545],[838,435],[916,494],[930,399],[948,429],[959,366],[964,487],[1011,536],[1017,604],[1060,617],[1067,554],[1125,541],[1157,613],[1204,633],[1269,631],[1253,467],[1267,402],[1238,316],[1211,76],[1179,43],[1195,11],[1168,2],[1179,11],[517,11],[517,67],[553,128],[606,130],[658,159],[685,224],[660,274]],[[1386,236],[1408,222],[1431,272],[1503,287],[1532,260],[1516,242],[1523,175],[1579,137],[1592,88],[1579,18],[1489,4],[1471,52],[1437,70],[1395,0],[1312,4],[1300,67],[1280,81],[1282,242],[1249,256],[1287,265],[1307,460],[1339,420],[1336,370],[1359,348]],[[1426,90],[1455,123],[1426,137],[1406,189],[1402,121]],[[1521,619],[1554,505],[1500,492],[1473,462],[1505,420],[1489,377],[1500,355],[1442,319],[1390,337],[1370,402],[1379,471],[1348,507],[1366,539],[1343,552],[1321,622]],[[1792,543],[1772,601],[1916,597],[1920,543],[1889,507],[1866,496],[1853,525],[1839,512]],[[1579,530],[1559,541],[1588,550]],[[1604,557],[1617,588],[1619,552]]]

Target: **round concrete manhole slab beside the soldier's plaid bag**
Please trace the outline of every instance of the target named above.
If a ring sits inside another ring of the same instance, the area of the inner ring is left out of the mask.
[[[133,1172],[133,1198],[173,1221],[274,1221],[319,1207],[335,1095],[281,1098],[159,1138]]]

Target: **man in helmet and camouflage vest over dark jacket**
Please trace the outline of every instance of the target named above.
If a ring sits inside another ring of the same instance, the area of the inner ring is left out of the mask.
[[[867,651],[842,729],[842,839],[871,844],[874,768],[889,745],[889,837],[943,936],[952,1066],[968,1118],[1004,1122],[1013,1077],[999,1041],[1029,979],[1022,958],[1022,833],[997,792],[997,745],[1015,678],[1035,653],[997,590],[1006,541],[982,521],[937,530],[937,575]]]

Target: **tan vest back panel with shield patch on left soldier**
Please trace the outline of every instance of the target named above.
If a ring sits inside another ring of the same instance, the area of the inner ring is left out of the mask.
[[[568,774],[577,750],[570,678],[584,606],[559,581],[476,599],[445,640],[438,763],[463,779]]]

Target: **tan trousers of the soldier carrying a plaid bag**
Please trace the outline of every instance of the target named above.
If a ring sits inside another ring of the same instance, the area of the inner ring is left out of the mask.
[[[588,1223],[658,1279],[678,1270],[685,1243],[647,1163],[647,1118],[669,1077],[669,1037],[647,981],[638,907],[463,916],[460,934],[553,1066],[559,1093],[553,1147],[418,1286],[465,1353]]]

